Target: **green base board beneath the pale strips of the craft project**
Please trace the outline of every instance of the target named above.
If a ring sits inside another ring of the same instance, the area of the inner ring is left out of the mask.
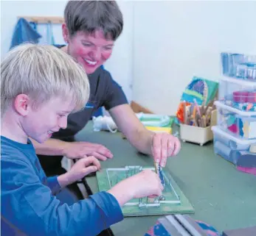
[[[143,167],[143,168],[151,168],[151,167]],[[115,171],[117,168],[108,168],[103,169],[102,171],[97,172],[97,182],[100,191],[107,191],[111,188],[108,181],[111,179],[111,185],[116,185],[117,182],[120,182],[122,179],[127,178],[126,171]],[[153,168],[152,168],[153,169]],[[107,174],[107,170],[108,171]],[[136,171],[128,171],[128,176],[136,174],[139,172],[139,169]],[[165,200],[173,201],[179,200],[180,203],[160,203],[158,207],[145,207],[139,208],[138,206],[123,206],[122,213],[124,216],[138,216],[138,215],[168,215],[168,214],[193,214],[195,212],[193,206],[190,204],[190,201],[184,196],[179,186],[173,180],[169,173],[163,171],[165,175],[165,182],[168,183],[167,179],[170,180],[172,187],[174,188],[176,194],[179,196],[177,199],[173,189],[170,185],[165,185],[165,190],[163,191],[163,196],[165,196]],[[148,199],[148,202],[152,202],[154,199]],[[139,199],[132,199],[129,203],[138,203]],[[147,198],[142,199],[142,203],[146,203]]]

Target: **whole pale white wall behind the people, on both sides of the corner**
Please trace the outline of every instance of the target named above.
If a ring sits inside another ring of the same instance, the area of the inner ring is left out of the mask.
[[[105,68],[129,100],[153,112],[174,115],[194,75],[217,80],[221,51],[256,54],[256,1],[118,3],[124,31]],[[66,1],[1,1],[1,56],[10,48],[18,15],[63,16],[65,5]],[[55,41],[62,43],[60,26],[54,27]]]

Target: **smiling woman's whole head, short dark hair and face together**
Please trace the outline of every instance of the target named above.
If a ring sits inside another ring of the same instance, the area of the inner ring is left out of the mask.
[[[115,1],[69,1],[64,15],[64,50],[92,74],[111,56],[122,32],[122,13]]]

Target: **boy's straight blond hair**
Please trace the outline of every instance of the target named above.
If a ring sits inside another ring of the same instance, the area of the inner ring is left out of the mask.
[[[89,80],[84,69],[64,51],[24,43],[9,51],[1,62],[1,116],[18,94],[30,96],[36,107],[55,96],[63,101],[71,99],[77,111],[89,99]]]

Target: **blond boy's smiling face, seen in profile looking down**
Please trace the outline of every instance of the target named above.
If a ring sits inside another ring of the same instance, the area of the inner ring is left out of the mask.
[[[44,143],[52,137],[53,132],[59,129],[66,129],[67,116],[74,109],[71,104],[72,99],[60,99],[59,97],[50,99],[37,109],[28,106],[27,115],[24,116],[22,127],[27,136]]]

